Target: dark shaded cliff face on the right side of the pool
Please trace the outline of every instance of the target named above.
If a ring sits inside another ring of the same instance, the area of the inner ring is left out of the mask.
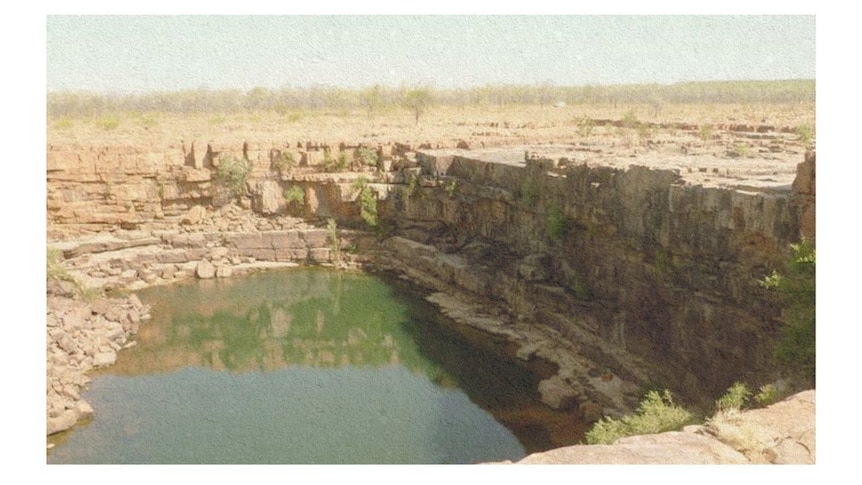
[[[759,279],[789,243],[813,237],[813,195],[691,185],[677,170],[489,158],[420,154],[439,181],[389,206],[402,234],[466,258],[444,280],[573,341],[597,337],[596,362],[624,379],[639,380],[613,349],[689,397],[776,377],[780,308]],[[813,194],[813,156],[802,167],[812,182],[797,185]],[[423,268],[435,266],[445,265]]]

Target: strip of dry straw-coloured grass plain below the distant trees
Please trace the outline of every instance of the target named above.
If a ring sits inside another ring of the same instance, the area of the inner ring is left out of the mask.
[[[390,108],[368,117],[365,111],[237,113],[120,113],[111,128],[101,118],[63,117],[48,120],[51,145],[171,146],[181,140],[236,145],[243,141],[277,144],[299,141],[338,143],[392,141],[454,144],[457,140],[491,144],[547,143],[578,139],[584,118],[623,119],[633,113],[653,123],[741,123],[814,126],[814,104],[667,105],[655,114],[648,105],[570,105],[511,107],[435,107],[416,124],[404,109]],[[608,135],[601,129],[596,135]]]

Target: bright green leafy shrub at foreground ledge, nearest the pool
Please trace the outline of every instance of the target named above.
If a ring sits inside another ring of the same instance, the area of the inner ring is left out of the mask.
[[[588,444],[611,444],[626,437],[676,431],[694,423],[694,415],[673,402],[670,391],[649,391],[637,414],[620,419],[604,418],[586,433]]]

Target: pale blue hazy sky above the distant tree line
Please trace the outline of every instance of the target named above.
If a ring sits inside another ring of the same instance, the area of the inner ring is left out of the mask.
[[[49,16],[47,87],[814,79],[809,16]]]

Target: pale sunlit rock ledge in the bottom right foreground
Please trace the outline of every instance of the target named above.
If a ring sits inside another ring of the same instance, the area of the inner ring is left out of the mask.
[[[611,445],[534,453],[518,464],[814,464],[815,391],[767,408],[715,417],[683,431],[630,436]]]

